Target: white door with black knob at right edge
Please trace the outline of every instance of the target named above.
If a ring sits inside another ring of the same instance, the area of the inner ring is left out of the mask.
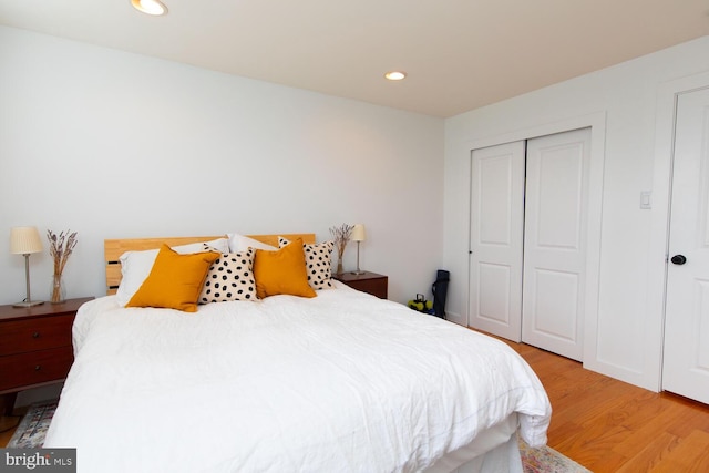
[[[709,89],[676,120],[662,389],[709,403]]]

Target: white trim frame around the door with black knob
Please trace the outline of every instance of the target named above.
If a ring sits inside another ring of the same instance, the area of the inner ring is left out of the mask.
[[[660,84],[657,92],[655,120],[655,174],[653,177],[653,215],[648,250],[648,298],[646,325],[647,353],[645,370],[649,389],[662,390],[662,351],[665,348],[665,313],[667,294],[667,260],[669,251],[669,218],[675,154],[675,121],[677,97],[681,93],[709,86],[709,72],[676,79]]]

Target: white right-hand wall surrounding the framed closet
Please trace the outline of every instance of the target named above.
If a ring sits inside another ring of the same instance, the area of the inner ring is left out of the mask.
[[[658,273],[665,254],[661,245],[653,244],[651,230],[657,232],[654,220],[666,222],[667,195],[654,195],[654,208],[641,210],[640,192],[651,191],[656,177],[656,120],[667,119],[656,113],[660,91],[668,81],[703,71],[709,71],[709,37],[449,119],[444,266],[453,274],[467,273],[473,143],[532,137],[545,127],[605,116],[599,284],[593,301],[596,313],[589,315],[595,333],[585,338],[590,358],[584,364],[657,390],[662,326],[657,295],[664,291]],[[669,178],[665,168],[657,172],[660,181]],[[466,322],[466,277],[452,279],[448,309],[450,317]]]

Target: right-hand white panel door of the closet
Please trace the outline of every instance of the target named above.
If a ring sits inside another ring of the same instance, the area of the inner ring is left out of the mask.
[[[583,359],[590,128],[527,141],[522,341]]]

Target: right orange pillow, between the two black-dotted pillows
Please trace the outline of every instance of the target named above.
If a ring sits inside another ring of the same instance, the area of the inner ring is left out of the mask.
[[[256,295],[259,299],[279,294],[316,297],[308,284],[302,239],[297,238],[277,251],[257,249],[254,258]]]

